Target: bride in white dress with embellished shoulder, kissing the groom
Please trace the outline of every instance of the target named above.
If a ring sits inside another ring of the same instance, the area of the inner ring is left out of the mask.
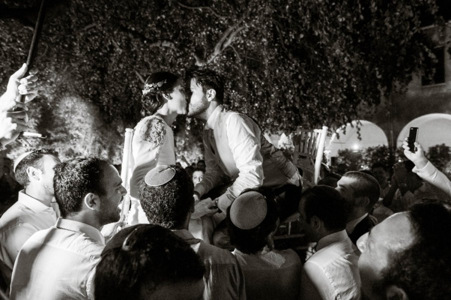
[[[129,224],[148,223],[138,199],[141,179],[157,165],[175,164],[171,125],[187,108],[182,77],[165,71],[152,73],[144,84],[141,103],[145,117],[136,125],[132,139]]]

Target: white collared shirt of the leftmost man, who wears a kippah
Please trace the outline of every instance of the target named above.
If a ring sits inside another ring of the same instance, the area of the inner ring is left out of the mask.
[[[55,210],[19,192],[19,200],[0,218],[0,260],[13,271],[19,250],[35,232],[52,227],[57,220]]]

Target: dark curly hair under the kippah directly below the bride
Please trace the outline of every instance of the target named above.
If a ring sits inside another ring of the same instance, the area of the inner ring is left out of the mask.
[[[175,164],[174,177],[159,186],[149,186],[144,178],[138,184],[139,200],[151,224],[180,229],[192,209],[194,186],[186,171]]]

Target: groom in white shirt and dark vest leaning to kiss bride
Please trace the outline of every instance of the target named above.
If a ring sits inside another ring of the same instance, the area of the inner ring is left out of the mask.
[[[206,172],[194,188],[195,217],[221,211],[215,220],[225,218],[227,208],[246,188],[268,187],[279,194],[281,220],[294,213],[302,177],[282,153],[261,132],[259,125],[248,115],[230,111],[222,106],[224,84],[210,69],[187,73],[191,98],[188,116],[205,122],[203,142]],[[208,193],[208,194],[207,194]],[[200,198],[207,194],[211,199]],[[285,195],[286,194],[286,195]]]

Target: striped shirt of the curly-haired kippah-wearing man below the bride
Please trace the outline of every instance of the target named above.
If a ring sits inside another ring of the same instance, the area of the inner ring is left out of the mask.
[[[204,300],[246,299],[244,275],[237,258],[224,250],[194,238],[188,230],[173,230],[199,255],[205,265]]]

